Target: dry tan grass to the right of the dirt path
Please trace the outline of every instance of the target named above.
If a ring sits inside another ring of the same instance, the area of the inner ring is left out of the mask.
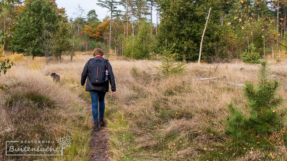
[[[134,140],[134,154],[138,160],[200,159],[206,146],[228,140],[222,124],[228,115],[227,103],[233,102],[248,114],[242,87],[194,78],[210,77],[209,69],[215,68],[215,64],[189,63],[186,75],[168,78],[151,75],[156,72],[153,65],[157,66],[157,61],[117,60],[111,64],[117,82],[116,103],[129,118],[128,123],[133,125],[130,131],[138,137]],[[287,66],[278,65],[272,63],[271,68],[274,74],[281,76],[277,78],[283,83],[279,94],[286,100]],[[243,63],[221,64],[212,76],[226,76],[228,81],[235,83],[256,82],[257,69],[257,65]],[[284,102],[279,109],[286,106]],[[174,143],[176,146],[172,146]],[[260,158],[262,153],[249,154],[246,158]]]

